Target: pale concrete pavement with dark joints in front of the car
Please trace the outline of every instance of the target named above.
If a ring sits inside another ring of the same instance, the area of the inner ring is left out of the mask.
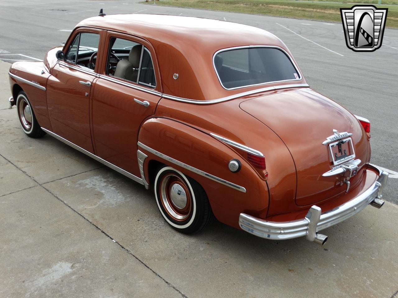
[[[0,108],[0,297],[390,298],[397,225],[387,202],[324,230],[323,247],[220,223],[179,234],[143,186],[48,135],[26,137],[15,107]]]

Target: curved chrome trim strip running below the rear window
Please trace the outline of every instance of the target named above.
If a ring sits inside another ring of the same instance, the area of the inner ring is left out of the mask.
[[[200,101],[200,100],[197,100],[197,99],[187,99],[187,98],[177,97],[177,96],[168,95],[168,94],[162,94],[162,96],[164,98],[172,99],[174,101],[182,101],[183,103],[213,104],[213,103],[221,103],[223,101],[229,101],[231,99],[236,99],[238,97],[244,97],[244,96],[252,95],[252,94],[255,94],[255,93],[259,93],[259,92],[278,90],[278,89],[285,89],[285,88],[303,88],[303,87],[310,87],[310,85],[308,85],[308,84],[291,84],[291,85],[279,85],[279,86],[264,87],[264,88],[260,88],[260,89],[250,90],[250,91],[246,91],[246,92],[242,92],[242,93],[238,93],[238,94],[222,97],[222,98],[219,98],[219,99],[211,99],[211,100],[208,100],[208,101]]]

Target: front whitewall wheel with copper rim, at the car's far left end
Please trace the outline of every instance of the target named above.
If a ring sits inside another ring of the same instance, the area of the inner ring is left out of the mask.
[[[18,93],[16,105],[23,132],[27,136],[34,138],[45,135],[46,133],[41,129],[39,122],[36,120],[35,113],[25,92],[20,91]]]

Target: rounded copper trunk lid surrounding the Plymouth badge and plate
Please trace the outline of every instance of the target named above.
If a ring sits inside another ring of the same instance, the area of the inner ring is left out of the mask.
[[[355,116],[309,88],[249,99],[240,108],[273,130],[289,149],[297,172],[298,206],[336,197],[347,189],[346,184],[341,185],[341,176],[322,176],[335,166],[329,146],[322,144],[333,130],[351,133],[355,159],[361,159],[358,168],[366,162],[367,139]],[[351,188],[361,177],[358,171],[350,178]],[[268,179],[272,179],[271,172]]]

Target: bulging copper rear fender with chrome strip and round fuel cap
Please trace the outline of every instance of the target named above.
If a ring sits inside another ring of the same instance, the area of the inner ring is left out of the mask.
[[[239,214],[242,212],[265,218],[269,205],[266,182],[224,143],[191,126],[167,118],[151,118],[144,122],[138,141],[139,150],[148,155],[144,161],[144,174],[149,184],[148,164],[151,160],[156,160],[173,166],[199,182],[209,197],[213,213],[222,223],[238,228]],[[242,168],[236,173],[228,169],[228,162],[234,158],[242,163]],[[203,173],[198,174],[190,167],[241,186],[246,192],[226,186]]]

